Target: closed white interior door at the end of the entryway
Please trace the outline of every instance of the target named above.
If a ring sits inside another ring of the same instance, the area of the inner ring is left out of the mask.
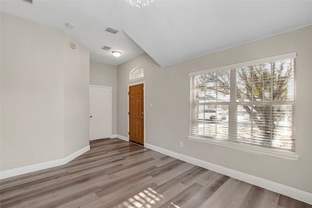
[[[90,140],[111,136],[111,88],[90,86]]]

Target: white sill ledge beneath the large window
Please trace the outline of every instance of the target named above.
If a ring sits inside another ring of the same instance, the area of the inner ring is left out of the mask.
[[[192,141],[196,141],[196,142],[202,142],[202,143],[213,144],[213,145],[218,145],[218,146],[227,147],[227,148],[233,148],[235,150],[251,152],[254,154],[270,155],[270,156],[280,157],[283,159],[288,159],[288,160],[293,160],[293,161],[299,160],[299,156],[295,155],[294,152],[286,152],[286,151],[278,151],[278,150],[271,151],[271,150],[268,150],[267,148],[261,148],[261,147],[255,148],[255,147],[251,147],[245,144],[235,144],[232,142],[214,140],[214,139],[191,136],[191,135],[188,136],[188,139]]]

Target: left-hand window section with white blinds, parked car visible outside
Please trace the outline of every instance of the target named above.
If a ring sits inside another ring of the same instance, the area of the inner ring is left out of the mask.
[[[191,76],[191,134],[227,139],[229,103],[229,70]]]

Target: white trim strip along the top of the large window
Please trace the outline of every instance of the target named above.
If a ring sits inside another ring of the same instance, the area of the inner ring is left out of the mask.
[[[275,56],[275,57],[267,57],[267,58],[252,60],[252,61],[246,61],[243,63],[236,63],[236,64],[232,64],[232,65],[227,65],[227,66],[221,66],[221,67],[217,67],[217,68],[213,68],[213,69],[206,69],[206,70],[199,71],[199,72],[192,72],[192,73],[189,73],[189,76],[202,75],[202,74],[206,74],[206,73],[210,73],[210,72],[235,69],[235,68],[239,68],[239,67],[250,66],[250,65],[255,65],[255,64],[260,64],[260,63],[267,63],[267,62],[278,61],[278,60],[285,60],[285,59],[289,59],[289,58],[296,58],[296,52],[284,54],[284,55],[279,55],[279,56]]]

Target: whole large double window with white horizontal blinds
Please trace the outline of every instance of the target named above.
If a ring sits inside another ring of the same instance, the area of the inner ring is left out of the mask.
[[[189,76],[191,137],[295,152],[295,53]]]

